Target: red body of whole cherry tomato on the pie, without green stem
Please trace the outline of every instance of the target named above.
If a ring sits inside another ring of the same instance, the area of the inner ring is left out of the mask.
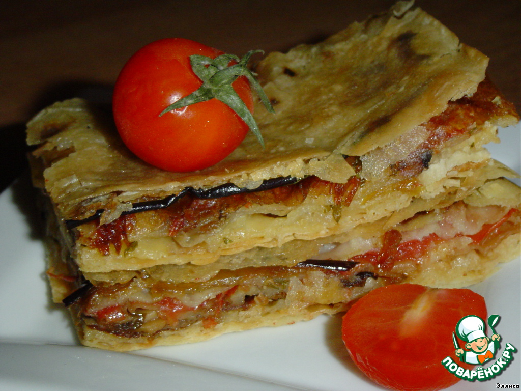
[[[215,58],[224,53],[187,39],[158,40],[128,60],[114,89],[114,120],[123,142],[142,160],[169,171],[190,172],[216,164],[237,148],[249,130],[215,98],[159,116],[201,87],[190,64],[194,54]],[[252,112],[248,80],[241,76],[232,86]]]

